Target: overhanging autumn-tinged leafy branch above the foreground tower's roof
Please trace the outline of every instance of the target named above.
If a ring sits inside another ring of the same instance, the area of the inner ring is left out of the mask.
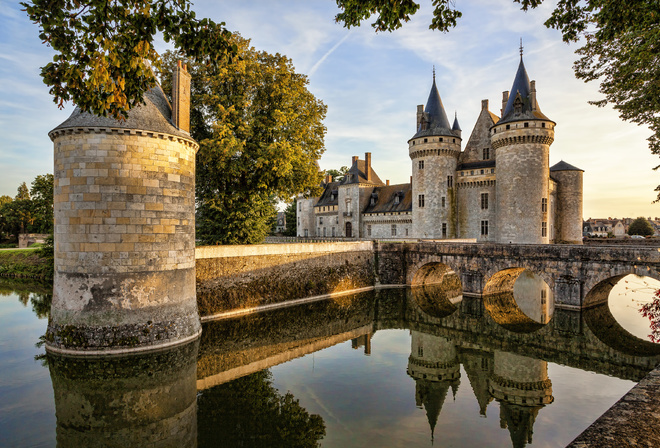
[[[143,103],[155,85],[153,47],[162,35],[188,58],[215,64],[234,48],[224,23],[198,20],[190,0],[29,0],[21,2],[56,54],[41,69],[60,108],[72,100],[83,111],[120,119]]]

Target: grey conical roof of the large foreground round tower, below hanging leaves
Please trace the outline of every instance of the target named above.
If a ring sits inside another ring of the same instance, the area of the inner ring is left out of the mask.
[[[145,104],[133,107],[124,121],[111,117],[98,117],[89,112],[82,112],[76,107],[71,116],[53,131],[66,128],[119,128],[190,138],[190,134],[177,129],[172,124],[172,108],[160,86],[153,87],[145,93],[144,101]]]

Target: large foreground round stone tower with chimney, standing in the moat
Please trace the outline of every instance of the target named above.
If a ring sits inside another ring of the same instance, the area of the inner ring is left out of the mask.
[[[46,348],[108,354],[201,333],[195,296],[190,75],[117,121],[76,109],[55,146],[55,278]]]

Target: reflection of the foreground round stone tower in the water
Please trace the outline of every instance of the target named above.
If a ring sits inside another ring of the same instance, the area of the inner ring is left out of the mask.
[[[197,446],[199,342],[149,355],[48,355],[57,446]]]

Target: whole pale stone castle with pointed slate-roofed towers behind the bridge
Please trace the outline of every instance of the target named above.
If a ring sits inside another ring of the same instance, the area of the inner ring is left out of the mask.
[[[462,149],[434,73],[408,140],[411,182],[383,183],[371,153],[353,157],[343,179],[326,177],[320,197],[298,199],[298,236],[581,244],[583,171],[563,161],[549,166],[556,123],[539,108],[522,50],[510,92],[501,117],[481,102]]]

